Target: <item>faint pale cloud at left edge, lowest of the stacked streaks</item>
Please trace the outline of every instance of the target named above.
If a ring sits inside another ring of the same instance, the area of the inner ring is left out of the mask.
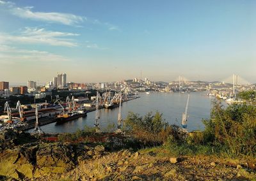
[[[50,52],[42,52],[38,50],[24,50],[7,45],[0,45],[0,62],[9,62],[14,64],[17,62],[56,62],[69,61],[66,57],[52,54]]]

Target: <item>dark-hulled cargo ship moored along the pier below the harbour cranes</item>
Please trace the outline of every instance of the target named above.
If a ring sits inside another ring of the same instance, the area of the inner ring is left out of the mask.
[[[86,111],[83,111],[83,110],[64,112],[57,115],[56,121],[57,121],[57,124],[61,124],[63,122],[68,122],[70,120],[74,120],[79,117],[85,117],[86,115],[87,115]]]

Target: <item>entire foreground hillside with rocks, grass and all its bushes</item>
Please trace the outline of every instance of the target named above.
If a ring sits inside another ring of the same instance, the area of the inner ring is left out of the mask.
[[[159,112],[129,113],[123,133],[85,127],[52,143],[0,133],[0,180],[253,180],[256,107],[214,102],[204,131],[169,125]],[[56,135],[55,135],[56,136]]]

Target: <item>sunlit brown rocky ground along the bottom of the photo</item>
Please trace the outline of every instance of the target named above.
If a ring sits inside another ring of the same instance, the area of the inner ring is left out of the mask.
[[[253,180],[253,168],[255,163],[246,160],[173,157],[161,147],[109,152],[102,145],[0,134],[1,180]]]

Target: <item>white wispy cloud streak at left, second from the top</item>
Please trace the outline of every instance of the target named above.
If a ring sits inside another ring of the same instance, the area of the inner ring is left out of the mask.
[[[5,44],[33,43],[62,47],[77,47],[77,43],[74,40],[67,38],[68,36],[79,36],[79,34],[46,31],[45,29],[27,27],[25,31],[22,31],[19,35],[0,33],[0,42]]]

